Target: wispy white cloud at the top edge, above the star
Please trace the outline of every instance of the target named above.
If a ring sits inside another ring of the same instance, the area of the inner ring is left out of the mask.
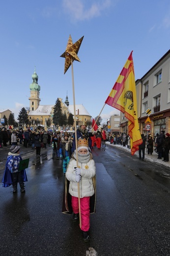
[[[63,0],[63,8],[74,20],[89,20],[101,15],[102,11],[111,6],[111,0],[102,0],[87,5],[87,0]]]

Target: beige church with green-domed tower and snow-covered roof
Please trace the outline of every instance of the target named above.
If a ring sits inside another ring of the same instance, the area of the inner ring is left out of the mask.
[[[47,121],[51,121],[51,127],[53,124],[53,113],[54,105],[40,105],[40,86],[38,85],[38,75],[34,70],[32,75],[32,83],[29,85],[30,97],[29,97],[29,111],[28,118],[29,120],[36,120],[41,126],[47,127]],[[69,105],[68,97],[66,96],[65,102],[62,101],[62,98],[58,98],[61,102],[62,113],[66,114],[67,118],[69,113],[73,114],[74,117],[74,107]],[[76,105],[76,124],[80,125],[87,121],[91,120],[90,114],[87,112],[83,105]],[[34,122],[33,121],[33,122]],[[33,124],[34,126],[34,124]]]

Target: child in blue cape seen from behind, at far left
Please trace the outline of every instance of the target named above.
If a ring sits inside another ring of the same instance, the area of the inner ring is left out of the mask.
[[[22,160],[20,156],[20,146],[12,145],[5,164],[2,183],[3,187],[13,186],[13,193],[17,192],[17,185],[20,184],[21,192],[25,192],[24,182],[28,181],[25,169],[19,170]]]

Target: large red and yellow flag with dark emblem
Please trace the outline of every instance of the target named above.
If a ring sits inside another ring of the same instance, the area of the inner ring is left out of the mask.
[[[139,150],[139,145],[142,144],[142,138],[138,123],[137,95],[132,52],[105,103],[123,112],[128,119],[128,133],[131,138],[131,154],[134,155],[135,152]]]

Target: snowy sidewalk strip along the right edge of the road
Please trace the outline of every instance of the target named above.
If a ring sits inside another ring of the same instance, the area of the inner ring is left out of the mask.
[[[131,150],[126,147],[123,147],[122,145],[113,145],[110,144],[109,141],[106,142],[107,145],[110,145],[112,147],[116,147],[116,148],[120,148],[121,150],[125,150],[127,152],[129,152],[129,154],[131,154]],[[144,160],[146,161],[151,161],[151,162],[156,162],[157,164],[161,164],[161,165],[165,165],[165,166],[169,166],[170,167],[170,161],[169,162],[164,162],[163,158],[162,159],[158,159],[158,154],[153,150],[152,155],[147,155],[147,149],[145,149],[145,156],[144,156]],[[137,151],[135,153],[135,155],[137,158],[139,158],[139,152]]]

